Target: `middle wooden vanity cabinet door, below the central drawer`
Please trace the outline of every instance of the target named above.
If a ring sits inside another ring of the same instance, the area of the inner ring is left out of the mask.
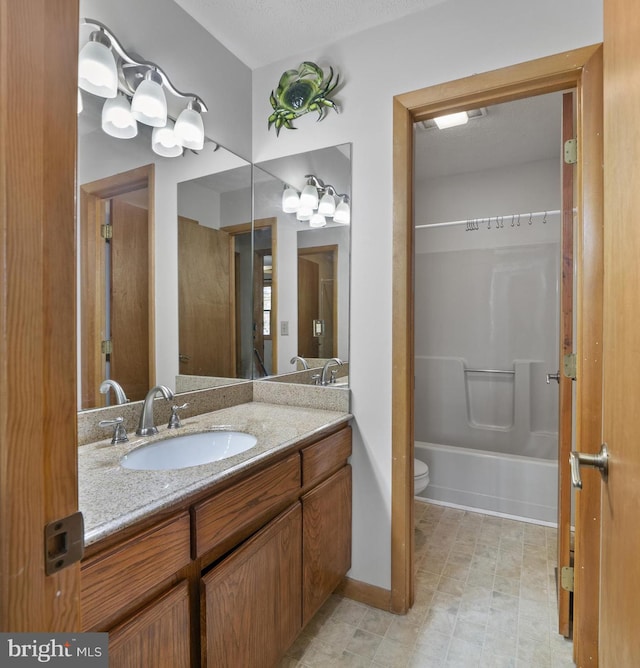
[[[300,631],[296,503],[202,577],[202,665],[271,668]]]

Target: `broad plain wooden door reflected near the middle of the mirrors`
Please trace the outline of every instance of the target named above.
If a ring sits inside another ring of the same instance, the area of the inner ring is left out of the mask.
[[[180,373],[233,378],[229,235],[178,218]]]

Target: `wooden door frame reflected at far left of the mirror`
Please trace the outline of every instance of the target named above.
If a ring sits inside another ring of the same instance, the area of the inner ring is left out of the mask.
[[[80,345],[83,351],[91,350],[104,328],[104,290],[100,289],[99,276],[104,276],[104,254],[100,227],[104,221],[104,201],[136,190],[147,189],[149,230],[149,387],[155,385],[155,165],[136,167],[80,186],[80,280],[81,313]],[[83,408],[103,405],[104,397],[98,386],[104,378],[104,358],[91,355],[84,363],[81,356],[81,403]]]

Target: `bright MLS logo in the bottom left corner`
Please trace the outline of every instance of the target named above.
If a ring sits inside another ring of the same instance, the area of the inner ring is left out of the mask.
[[[106,633],[0,633],[0,666],[108,668]]]

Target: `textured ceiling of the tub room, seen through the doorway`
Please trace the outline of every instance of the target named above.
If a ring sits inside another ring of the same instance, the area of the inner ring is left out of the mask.
[[[415,130],[417,182],[481,169],[560,158],[562,94],[495,105],[447,130]]]

